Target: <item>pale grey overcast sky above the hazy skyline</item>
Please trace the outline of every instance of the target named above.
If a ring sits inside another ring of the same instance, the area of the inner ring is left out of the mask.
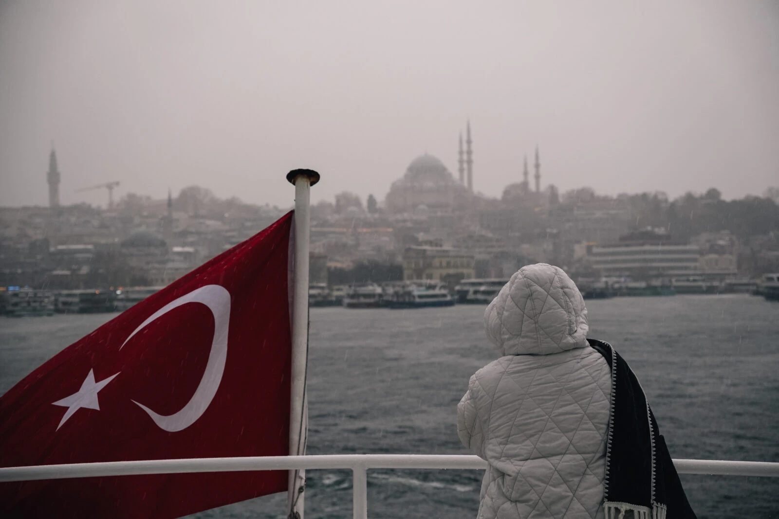
[[[639,5],[641,3],[641,5]],[[0,205],[189,184],[381,200],[421,153],[499,196],[541,149],[561,191],[779,184],[779,2],[0,3]],[[532,159],[532,157],[530,157]]]

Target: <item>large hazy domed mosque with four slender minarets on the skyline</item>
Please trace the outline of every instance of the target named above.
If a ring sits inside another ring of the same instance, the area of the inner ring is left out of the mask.
[[[449,172],[444,163],[432,155],[420,155],[406,168],[406,173],[390,187],[385,206],[390,212],[418,212],[420,210],[449,210],[464,208],[474,199],[474,153],[471,139],[471,121],[467,121],[465,149],[460,132],[457,151],[457,172],[460,181]],[[530,188],[527,156],[525,156],[523,181],[509,184],[503,190],[502,202],[522,205],[542,205],[547,198],[541,192],[541,159],[538,146],[535,150],[535,189]]]

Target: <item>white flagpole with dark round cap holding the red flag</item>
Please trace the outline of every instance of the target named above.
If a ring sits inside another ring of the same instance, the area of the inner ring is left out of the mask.
[[[308,237],[310,233],[310,188],[319,182],[314,170],[292,170],[287,181],[294,184],[294,302],[292,307],[292,380],[290,387],[291,456],[305,454],[308,431],[306,364],[308,362]],[[287,517],[303,519],[305,470],[291,470],[287,485]]]

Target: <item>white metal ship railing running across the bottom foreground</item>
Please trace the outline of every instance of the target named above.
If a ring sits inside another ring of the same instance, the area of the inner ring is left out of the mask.
[[[674,460],[680,474],[753,475],[777,478],[779,463],[766,461]],[[258,470],[348,468],[353,473],[354,519],[368,517],[368,468],[487,468],[476,456],[456,454],[326,454],[256,458],[106,461],[72,465],[0,468],[0,482],[90,478],[113,475],[241,472]]]

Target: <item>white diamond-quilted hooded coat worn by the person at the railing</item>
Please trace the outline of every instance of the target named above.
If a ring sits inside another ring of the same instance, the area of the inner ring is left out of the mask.
[[[463,444],[489,462],[478,517],[604,517],[611,373],[587,344],[587,309],[562,269],[511,277],[485,311],[501,357],[457,406]]]

